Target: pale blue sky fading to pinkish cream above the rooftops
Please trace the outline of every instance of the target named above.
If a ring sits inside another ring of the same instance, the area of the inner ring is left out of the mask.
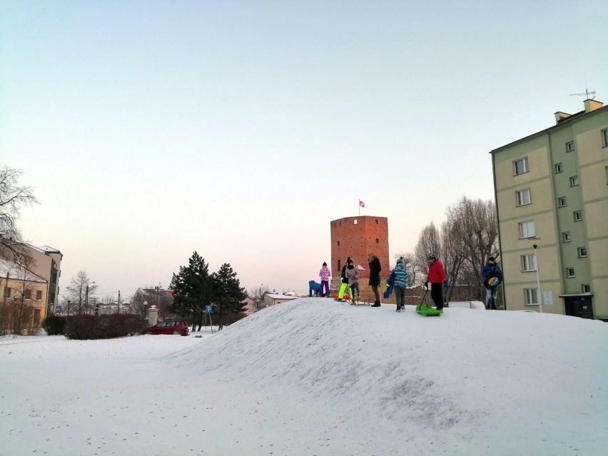
[[[493,148],[608,103],[606,1],[3,1],[0,165],[40,205],[24,239],[100,297],[194,250],[308,292],[330,221],[389,221],[390,255]],[[358,260],[355,258],[355,260]],[[365,258],[358,262],[365,264]],[[338,271],[333,271],[337,273]]]

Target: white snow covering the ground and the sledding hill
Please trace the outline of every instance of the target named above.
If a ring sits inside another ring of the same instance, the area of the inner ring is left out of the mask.
[[[599,321],[323,298],[203,338],[5,338],[0,455],[605,455],[607,345]]]

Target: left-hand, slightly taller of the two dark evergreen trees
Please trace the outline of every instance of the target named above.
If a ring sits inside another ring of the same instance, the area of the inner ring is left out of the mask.
[[[209,265],[196,251],[188,260],[187,266],[180,266],[179,273],[173,273],[171,289],[174,291],[173,303],[167,306],[168,312],[192,317],[192,330],[203,318],[203,309],[211,303],[211,277]]]

